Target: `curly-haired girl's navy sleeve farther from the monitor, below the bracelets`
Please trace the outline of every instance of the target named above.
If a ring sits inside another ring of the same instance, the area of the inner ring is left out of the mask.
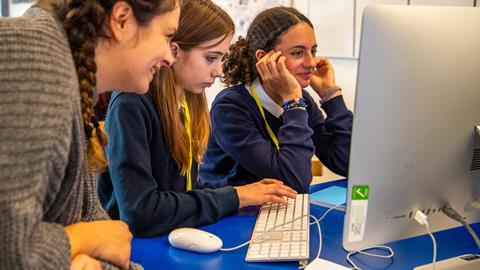
[[[314,153],[308,113],[289,110],[283,114],[277,151],[268,134],[262,132],[263,120],[251,110],[244,99],[235,96],[224,97],[214,104],[212,130],[219,146],[256,176],[275,178],[299,192],[308,192]]]

